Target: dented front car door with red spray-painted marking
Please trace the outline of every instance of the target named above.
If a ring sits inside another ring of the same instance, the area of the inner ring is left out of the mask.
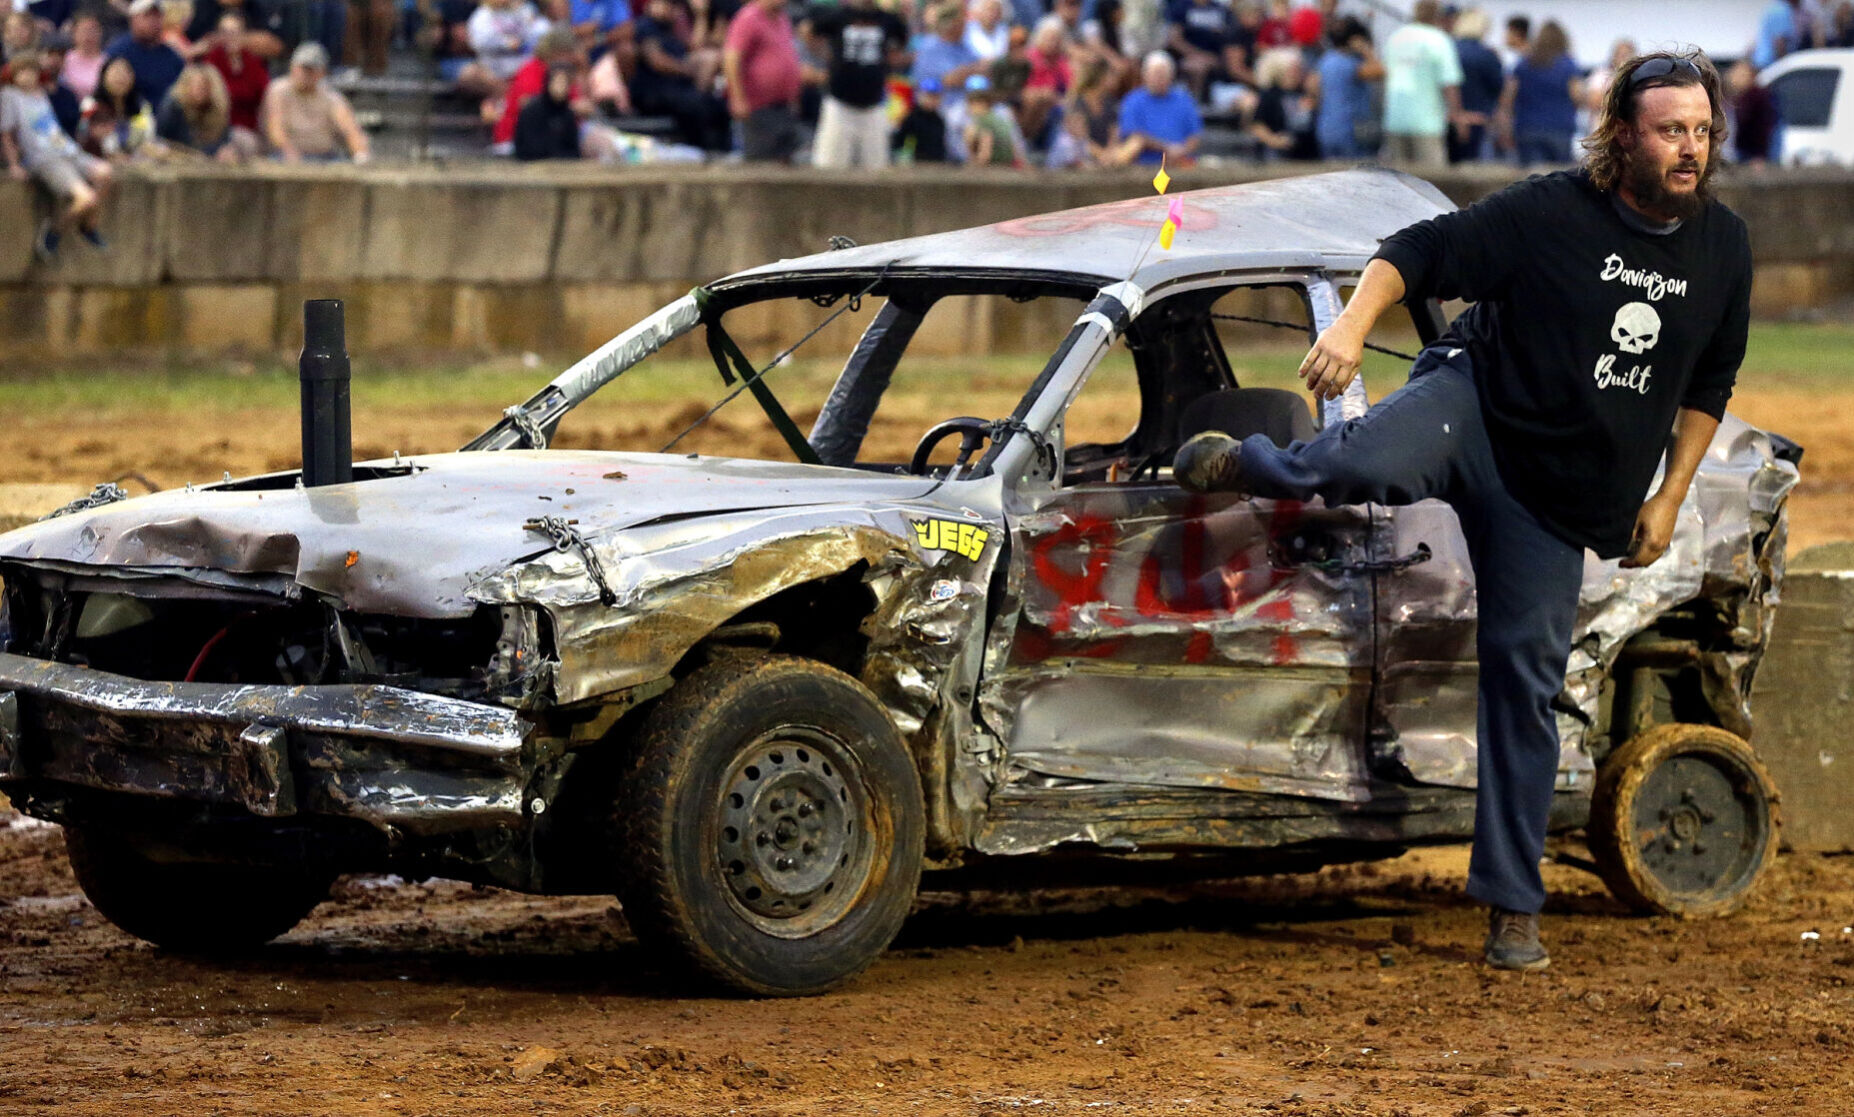
[[[1372,610],[1337,564],[1366,534],[1357,508],[1164,484],[1035,499],[981,694],[1009,768],[1361,798]]]

